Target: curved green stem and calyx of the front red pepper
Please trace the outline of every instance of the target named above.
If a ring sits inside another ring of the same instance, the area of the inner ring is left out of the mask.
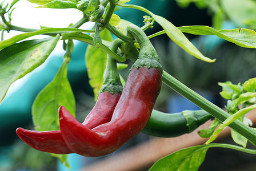
[[[147,38],[145,32],[141,30],[138,26],[129,25],[127,26],[127,34],[134,36],[140,46],[138,59],[133,64],[133,67],[148,67],[148,68],[158,68],[163,72],[162,65],[157,55],[157,51],[153,47],[150,40]]]

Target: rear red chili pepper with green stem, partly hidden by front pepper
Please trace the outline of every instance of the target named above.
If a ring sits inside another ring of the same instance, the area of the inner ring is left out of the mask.
[[[120,44],[121,42],[115,41],[114,43]],[[113,48],[113,51],[117,51],[117,47]],[[111,57],[108,58],[111,59]],[[85,121],[82,123],[82,125],[88,129],[109,122],[115,109],[115,105],[117,105],[119,97],[121,96],[122,83],[117,72],[117,64],[115,62],[108,63],[105,71],[104,83],[99,91],[98,100],[89,115],[87,115]],[[16,133],[21,140],[34,149],[56,154],[74,153],[63,140],[61,131],[32,131],[17,128]]]

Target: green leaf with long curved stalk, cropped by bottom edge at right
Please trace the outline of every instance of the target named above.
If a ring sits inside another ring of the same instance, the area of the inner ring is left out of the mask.
[[[162,170],[189,170],[197,171],[199,166],[205,160],[206,152],[209,148],[229,148],[239,150],[245,153],[256,154],[256,150],[245,149],[241,146],[231,144],[209,144],[191,146],[189,148],[178,150],[169,156],[163,157],[151,168],[149,171],[162,171]]]

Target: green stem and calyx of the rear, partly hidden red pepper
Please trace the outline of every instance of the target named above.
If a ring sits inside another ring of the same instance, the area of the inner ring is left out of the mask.
[[[117,52],[118,47],[123,43],[120,39],[115,39],[111,45],[110,49],[114,52]],[[107,66],[103,75],[103,85],[101,89],[99,89],[99,93],[102,92],[110,92],[114,93],[122,93],[123,86],[120,80],[120,76],[117,70],[117,61],[112,58],[110,55],[107,55]]]

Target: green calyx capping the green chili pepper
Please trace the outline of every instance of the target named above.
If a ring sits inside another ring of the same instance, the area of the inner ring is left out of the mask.
[[[206,121],[213,119],[210,113],[204,110],[198,111],[182,111],[182,114],[187,119],[187,127],[189,127],[189,133],[197,129],[200,125],[204,124]]]

